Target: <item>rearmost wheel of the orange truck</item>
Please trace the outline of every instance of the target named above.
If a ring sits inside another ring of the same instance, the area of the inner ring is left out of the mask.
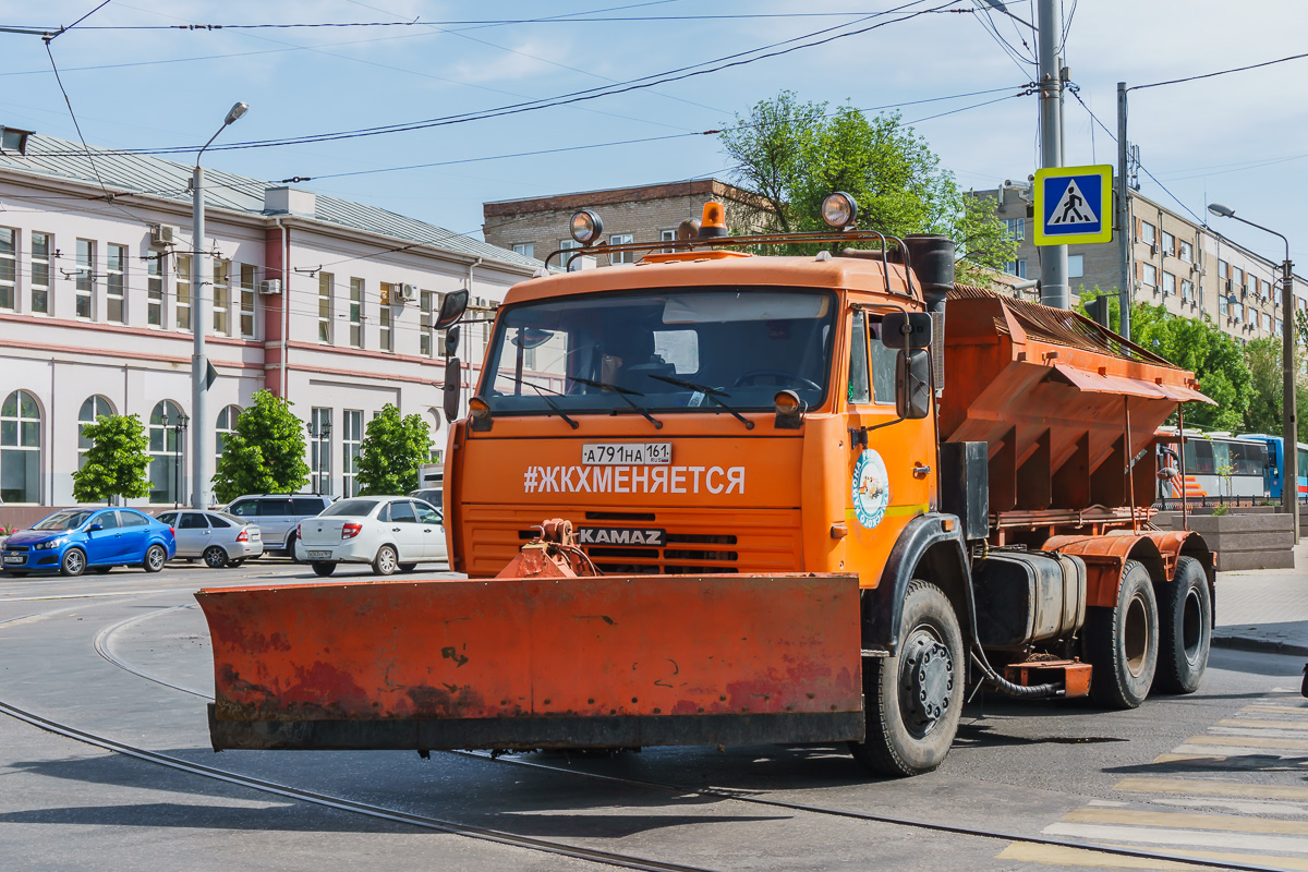
[[[1194,693],[1209,667],[1213,599],[1209,577],[1193,557],[1179,557],[1172,583],[1155,586],[1159,617],[1158,675],[1163,693]]]

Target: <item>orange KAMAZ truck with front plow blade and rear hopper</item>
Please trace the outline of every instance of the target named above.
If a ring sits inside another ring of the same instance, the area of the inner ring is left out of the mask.
[[[912,775],[978,685],[1193,692],[1213,554],[1148,506],[1194,375],[855,209],[730,237],[709,204],[657,246],[579,213],[636,261],[497,311],[446,452],[467,578],[200,591],[215,749],[848,743]]]

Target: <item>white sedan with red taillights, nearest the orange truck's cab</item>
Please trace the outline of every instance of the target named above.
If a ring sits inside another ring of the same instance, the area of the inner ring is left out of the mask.
[[[445,527],[439,510],[421,499],[351,497],[300,522],[296,557],[317,575],[331,575],[337,563],[371,563],[378,575],[408,573],[446,560]]]

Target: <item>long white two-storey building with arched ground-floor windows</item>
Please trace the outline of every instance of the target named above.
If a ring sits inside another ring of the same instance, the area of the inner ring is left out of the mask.
[[[183,422],[213,430],[221,451],[260,388],[288,397],[310,428],[311,486],[352,494],[362,429],[386,403],[426,418],[434,454],[445,446],[443,343],[430,329],[442,295],[467,288],[489,310],[540,267],[383,209],[213,170],[196,244],[188,165],[93,149],[93,167],[77,143],[0,132],[7,506],[72,505],[80,425],[105,413],[149,425],[153,493],[137,502],[186,502]],[[190,275],[196,250],[213,264],[213,284],[200,289]],[[203,422],[188,420],[198,293],[213,301],[217,371]],[[466,327],[459,357],[480,363],[487,332]],[[464,373],[466,391],[476,374]]]

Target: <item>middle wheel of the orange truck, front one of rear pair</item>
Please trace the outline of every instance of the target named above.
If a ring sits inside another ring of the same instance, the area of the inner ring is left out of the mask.
[[[1135,709],[1158,669],[1158,601],[1143,563],[1126,561],[1117,607],[1086,609],[1090,696],[1105,709]]]

